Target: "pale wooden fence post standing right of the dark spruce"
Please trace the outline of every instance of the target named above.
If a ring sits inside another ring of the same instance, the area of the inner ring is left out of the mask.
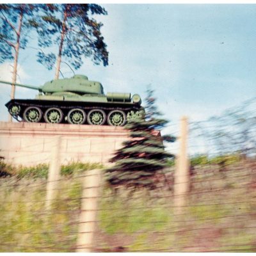
[[[180,119],[180,148],[174,174],[174,207],[175,214],[184,212],[186,198],[189,192],[189,159],[188,159],[188,118]]]

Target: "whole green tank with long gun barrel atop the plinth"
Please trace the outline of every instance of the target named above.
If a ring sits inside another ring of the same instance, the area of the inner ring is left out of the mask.
[[[52,80],[40,87],[18,83],[15,86],[39,92],[35,99],[12,99],[5,104],[18,121],[122,126],[145,113],[140,95],[105,95],[102,84],[82,75]]]

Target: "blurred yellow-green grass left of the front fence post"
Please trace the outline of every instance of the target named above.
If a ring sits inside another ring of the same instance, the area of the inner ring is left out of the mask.
[[[0,180],[0,252],[72,252],[81,208],[81,174],[99,164],[61,166],[63,178],[52,211],[45,211],[47,164],[13,168]],[[70,179],[72,178],[72,179]]]

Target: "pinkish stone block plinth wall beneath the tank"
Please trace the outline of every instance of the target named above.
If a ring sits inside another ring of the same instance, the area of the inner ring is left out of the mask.
[[[54,136],[61,136],[61,163],[108,163],[127,131],[122,127],[0,122],[0,156],[6,163],[49,163]]]

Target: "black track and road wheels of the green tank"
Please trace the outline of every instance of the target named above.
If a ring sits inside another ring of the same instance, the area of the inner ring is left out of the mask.
[[[13,99],[6,103],[19,122],[123,126],[141,118],[144,108],[130,102],[75,102]]]

